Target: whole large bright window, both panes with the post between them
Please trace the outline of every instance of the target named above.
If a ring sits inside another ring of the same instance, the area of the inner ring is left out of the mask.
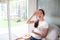
[[[28,32],[28,27],[25,23],[27,20],[27,0],[9,0],[8,6],[7,4],[8,2],[0,3],[0,35],[2,34],[4,37],[2,39],[0,37],[0,39],[9,40],[11,38],[15,40],[16,37]]]

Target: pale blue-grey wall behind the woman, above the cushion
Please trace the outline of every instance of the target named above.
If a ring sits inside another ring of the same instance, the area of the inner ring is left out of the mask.
[[[38,0],[38,8],[45,11],[45,20],[60,26],[60,0]]]

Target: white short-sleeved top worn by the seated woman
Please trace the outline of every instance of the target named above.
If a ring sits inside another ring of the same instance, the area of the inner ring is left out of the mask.
[[[43,33],[43,31],[42,31],[43,28],[48,28],[48,23],[45,21],[39,21],[39,25],[37,28],[34,28],[34,32],[41,34],[41,33]],[[31,35],[36,39],[41,39],[40,36],[38,36],[34,33],[32,33]]]

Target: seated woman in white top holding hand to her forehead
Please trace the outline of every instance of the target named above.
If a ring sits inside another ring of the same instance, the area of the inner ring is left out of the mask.
[[[36,16],[36,20],[31,20]],[[34,23],[34,30],[32,30],[30,40],[42,40],[46,37],[48,33],[48,23],[44,20],[45,12],[43,9],[38,9],[35,13],[28,19],[27,23]]]

